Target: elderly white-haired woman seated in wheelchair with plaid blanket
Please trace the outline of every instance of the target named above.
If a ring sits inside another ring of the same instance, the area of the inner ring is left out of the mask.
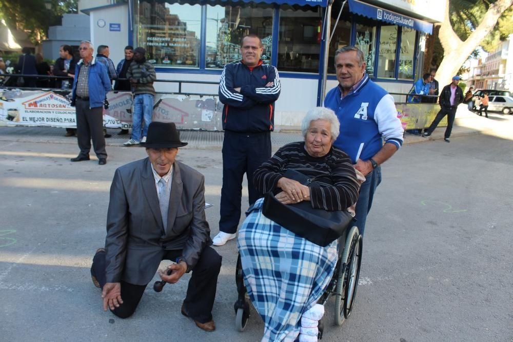
[[[362,177],[357,176],[347,154],[332,146],[339,127],[330,109],[308,111],[302,123],[304,141],[283,146],[262,164],[254,172],[255,187],[262,195],[273,192],[274,198],[287,206],[307,202],[326,211],[352,207]],[[303,185],[285,177],[287,170],[319,181]],[[238,268],[252,304],[264,320],[262,340],[317,340],[318,321],[324,313],[317,303],[338,265],[338,240],[325,247],[314,244],[264,216],[263,206],[264,198],[260,198],[248,210],[238,238]],[[249,308],[244,309],[247,320]]]

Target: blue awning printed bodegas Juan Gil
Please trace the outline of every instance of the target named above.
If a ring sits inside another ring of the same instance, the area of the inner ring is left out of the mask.
[[[368,5],[358,0],[349,0],[349,11],[382,22],[409,27],[417,31],[429,34],[433,32],[433,24],[431,23],[380,7]]]

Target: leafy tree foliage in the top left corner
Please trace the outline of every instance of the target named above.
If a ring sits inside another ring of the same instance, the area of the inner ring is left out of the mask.
[[[46,5],[50,6],[50,9]],[[64,13],[78,13],[78,0],[9,0],[0,2],[0,18],[11,29],[29,32],[34,44],[47,35],[50,26],[60,25]]]

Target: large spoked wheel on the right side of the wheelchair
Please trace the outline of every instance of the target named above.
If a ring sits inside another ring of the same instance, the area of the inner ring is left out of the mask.
[[[358,276],[360,274],[361,250],[362,238],[358,228],[353,226],[347,234],[340,259],[337,288],[335,290],[335,324],[338,326],[342,325],[344,320],[351,314],[352,303],[358,286]],[[348,301],[349,295],[351,299]],[[348,305],[349,310],[347,310]]]

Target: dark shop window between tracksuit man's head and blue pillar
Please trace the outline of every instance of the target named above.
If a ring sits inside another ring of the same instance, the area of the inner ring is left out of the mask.
[[[321,52],[321,12],[280,9],[278,70],[319,72]],[[332,63],[333,64],[333,63]]]

